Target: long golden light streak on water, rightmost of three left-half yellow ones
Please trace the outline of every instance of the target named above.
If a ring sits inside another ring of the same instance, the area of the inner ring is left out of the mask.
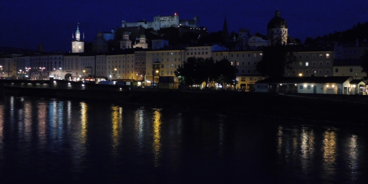
[[[153,150],[154,150],[154,155],[155,155],[155,167],[159,166],[159,159],[161,156],[161,143],[160,143],[160,138],[161,138],[161,109],[155,109],[156,111],[153,114]]]

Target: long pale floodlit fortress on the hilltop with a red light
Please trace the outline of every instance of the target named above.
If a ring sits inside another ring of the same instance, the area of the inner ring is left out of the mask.
[[[160,28],[166,27],[178,27],[178,26],[188,26],[197,28],[199,23],[198,17],[193,17],[193,20],[180,20],[179,14],[175,13],[170,16],[156,16],[154,17],[153,22],[147,22],[145,20],[138,21],[137,23],[127,23],[126,21],[122,21],[121,27],[137,27],[141,26],[145,29],[153,28],[154,30],[159,30]]]

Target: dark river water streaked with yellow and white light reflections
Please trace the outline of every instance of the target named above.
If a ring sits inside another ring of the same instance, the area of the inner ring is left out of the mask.
[[[1,183],[368,182],[366,127],[55,98],[0,100]]]

